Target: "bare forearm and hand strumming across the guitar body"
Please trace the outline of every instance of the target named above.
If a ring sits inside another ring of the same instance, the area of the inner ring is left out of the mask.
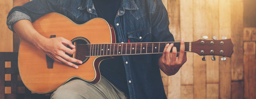
[[[67,52],[72,55],[76,51],[71,41],[63,37],[45,38],[35,30],[29,20],[19,20],[12,27],[23,40],[35,45],[35,47],[44,51],[50,58],[74,68],[78,68],[74,63],[82,64],[81,60],[71,58],[65,54]],[[72,50],[65,45],[69,45]]]

